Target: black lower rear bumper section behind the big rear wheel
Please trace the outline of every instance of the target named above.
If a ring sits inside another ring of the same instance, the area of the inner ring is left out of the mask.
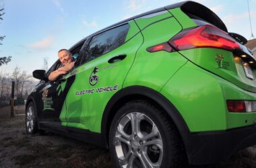
[[[256,144],[256,124],[226,131],[190,133],[184,137],[189,163],[225,161],[237,151]]]

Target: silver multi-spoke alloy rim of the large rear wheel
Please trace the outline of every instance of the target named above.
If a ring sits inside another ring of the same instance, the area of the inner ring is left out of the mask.
[[[162,138],[156,124],[145,114],[131,112],[123,116],[114,140],[121,167],[160,167]]]

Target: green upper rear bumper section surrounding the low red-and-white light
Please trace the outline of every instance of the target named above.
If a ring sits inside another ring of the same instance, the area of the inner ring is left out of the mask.
[[[227,130],[256,120],[255,113],[230,113],[226,108],[226,99],[255,100],[255,93],[202,71],[191,62],[166,83],[161,93],[181,112],[191,132]]]

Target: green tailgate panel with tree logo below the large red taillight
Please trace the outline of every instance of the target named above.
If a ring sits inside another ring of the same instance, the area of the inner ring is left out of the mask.
[[[246,77],[240,58],[235,59],[232,52],[217,48],[195,48],[183,50],[181,54],[196,65],[223,77],[238,87],[256,92],[256,81]],[[218,55],[222,55],[220,65],[218,65]]]

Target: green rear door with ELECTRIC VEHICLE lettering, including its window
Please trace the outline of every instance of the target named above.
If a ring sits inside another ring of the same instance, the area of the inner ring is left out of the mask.
[[[100,132],[106,103],[122,88],[142,42],[133,21],[92,36],[66,99],[68,127]]]

